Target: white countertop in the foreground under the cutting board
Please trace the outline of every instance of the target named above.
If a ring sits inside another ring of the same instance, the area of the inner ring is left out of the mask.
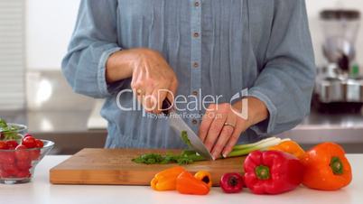
[[[299,187],[280,195],[255,195],[244,189],[237,194],[225,194],[213,188],[207,196],[181,195],[176,191],[158,192],[146,186],[52,185],[49,170],[69,156],[46,156],[36,168],[34,180],[26,184],[0,184],[0,203],[11,204],[82,204],[82,203],[148,203],[148,204],[255,204],[255,203],[363,203],[363,154],[349,154],[353,181],[337,191],[309,190]]]

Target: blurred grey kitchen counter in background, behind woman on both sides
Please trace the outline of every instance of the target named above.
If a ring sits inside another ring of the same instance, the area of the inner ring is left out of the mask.
[[[1,112],[0,116],[27,124],[30,133],[54,141],[57,145],[53,154],[73,154],[85,147],[102,148],[105,144],[107,123],[99,116],[100,105],[96,103],[93,110]],[[89,128],[89,124],[96,128]],[[292,138],[303,148],[332,141],[341,144],[347,153],[363,153],[363,116],[319,114],[312,110],[302,124],[277,136]]]

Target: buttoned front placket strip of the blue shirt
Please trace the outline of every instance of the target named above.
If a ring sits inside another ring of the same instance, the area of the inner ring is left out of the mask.
[[[201,99],[201,0],[191,0],[191,95]],[[200,104],[200,101],[197,101]],[[197,105],[198,107],[198,105]],[[191,114],[200,115],[200,108],[193,108]],[[191,128],[197,132],[199,117],[191,118]]]

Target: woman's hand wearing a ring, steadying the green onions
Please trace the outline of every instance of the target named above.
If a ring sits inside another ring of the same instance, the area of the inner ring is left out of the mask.
[[[214,159],[220,153],[226,157],[237,144],[239,135],[251,125],[255,125],[268,116],[265,104],[256,97],[247,97],[247,118],[242,118],[242,100],[231,106],[211,104],[206,110],[200,124],[200,139],[207,146]]]

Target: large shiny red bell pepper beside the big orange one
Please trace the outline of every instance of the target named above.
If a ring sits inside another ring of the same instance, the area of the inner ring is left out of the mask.
[[[249,153],[245,163],[245,184],[256,194],[279,194],[302,183],[303,166],[295,156],[280,151]]]

